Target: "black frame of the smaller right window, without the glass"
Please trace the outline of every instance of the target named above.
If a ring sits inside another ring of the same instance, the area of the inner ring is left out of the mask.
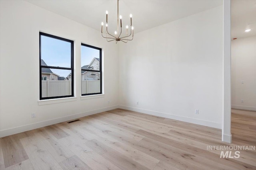
[[[90,47],[90,48],[97,49],[97,50],[100,51],[100,56],[99,56],[99,59],[100,59],[100,70],[82,69],[82,66],[81,66],[81,71],[100,72],[100,92],[99,93],[82,94],[82,87],[81,87],[81,95],[82,96],[89,96],[89,95],[94,95],[94,94],[102,94],[102,49],[99,48],[99,47],[94,47],[92,45],[87,45],[87,44],[81,43],[81,50],[82,50],[82,46]],[[82,77],[82,75],[81,75],[81,77]],[[81,85],[82,85],[82,79],[81,79]]]

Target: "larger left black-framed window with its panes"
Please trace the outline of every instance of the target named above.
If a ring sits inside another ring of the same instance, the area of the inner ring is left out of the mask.
[[[74,96],[73,61],[74,41],[39,33],[40,100]]]

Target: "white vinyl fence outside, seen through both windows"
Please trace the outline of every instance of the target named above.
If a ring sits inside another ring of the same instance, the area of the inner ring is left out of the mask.
[[[100,80],[82,81],[82,94],[99,92]],[[42,80],[42,98],[52,96],[69,96],[71,94],[71,80]]]

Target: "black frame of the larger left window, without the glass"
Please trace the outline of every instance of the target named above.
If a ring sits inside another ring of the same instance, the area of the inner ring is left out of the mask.
[[[58,40],[62,40],[62,41],[66,41],[70,43],[70,48],[71,48],[71,63],[70,63],[70,68],[68,67],[59,67],[59,66],[43,66],[41,65],[41,35],[46,36],[46,37],[50,37],[50,38],[54,38],[54,39],[58,39]],[[63,70],[71,70],[71,86],[72,86],[72,92],[71,95],[68,96],[52,96],[52,97],[44,97],[42,98],[42,68],[53,68],[53,69],[63,69]],[[43,32],[39,32],[39,82],[40,82],[40,100],[46,100],[46,99],[56,99],[56,98],[68,98],[68,97],[74,97],[74,41],[70,40],[70,39],[65,39],[62,37],[58,37],[55,35],[50,35],[47,33],[43,33]]]

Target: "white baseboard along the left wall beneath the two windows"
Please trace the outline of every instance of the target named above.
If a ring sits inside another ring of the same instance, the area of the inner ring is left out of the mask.
[[[41,121],[41,122],[29,124],[29,125],[20,126],[20,127],[4,129],[4,130],[0,131],[0,137],[14,135],[16,133],[30,131],[30,130],[37,129],[37,128],[40,128],[40,127],[54,125],[56,123],[61,123],[61,122],[64,122],[64,121],[69,121],[69,120],[72,120],[72,119],[77,119],[77,118],[80,118],[80,117],[93,115],[93,114],[96,114],[96,113],[100,113],[100,112],[108,111],[108,110],[112,110],[112,109],[117,109],[117,108],[119,108],[118,105],[117,106],[104,107],[104,108],[101,108],[101,109],[86,111],[84,113],[77,113],[77,114],[74,114],[74,115],[68,115],[68,116],[65,116],[65,117],[59,117],[59,118],[56,118],[56,119]]]

